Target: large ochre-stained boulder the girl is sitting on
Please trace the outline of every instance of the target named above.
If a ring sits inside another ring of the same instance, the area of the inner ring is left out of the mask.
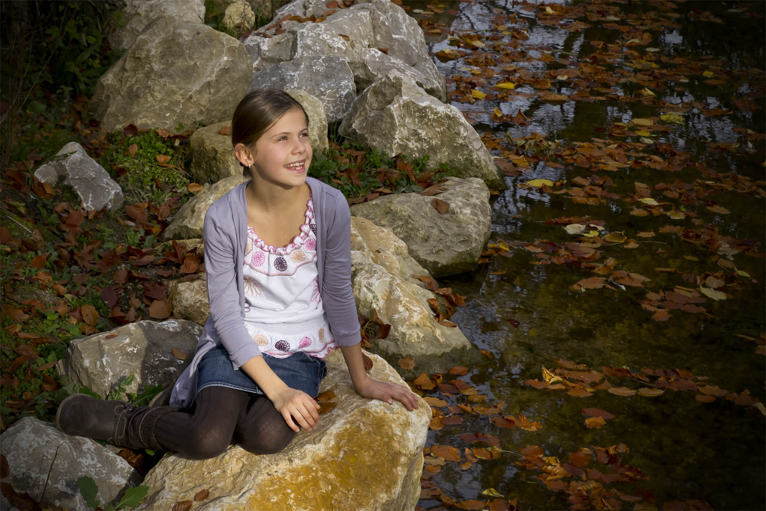
[[[370,376],[404,385],[385,360],[370,355]],[[149,496],[138,509],[171,509],[208,490],[194,509],[296,511],[414,509],[420,496],[430,408],[362,398],[340,350],[326,359],[321,391],[337,405],[314,431],[301,431],[279,454],[254,456],[234,445],[210,460],[165,456],[146,475]]]

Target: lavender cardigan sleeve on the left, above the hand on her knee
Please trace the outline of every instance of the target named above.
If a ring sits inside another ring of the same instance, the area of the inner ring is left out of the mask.
[[[231,219],[221,218],[215,206],[205,215],[205,273],[208,280],[210,317],[235,367],[260,355],[260,349],[244,326],[241,296],[237,286],[236,228]],[[223,215],[225,217],[225,215]]]

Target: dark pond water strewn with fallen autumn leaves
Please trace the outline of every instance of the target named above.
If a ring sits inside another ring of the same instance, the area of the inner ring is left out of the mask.
[[[766,509],[764,5],[404,2],[509,174],[421,509]]]

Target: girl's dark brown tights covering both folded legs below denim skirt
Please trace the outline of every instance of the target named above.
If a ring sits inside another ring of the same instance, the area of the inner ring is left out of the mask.
[[[191,411],[165,414],[155,427],[162,447],[195,460],[218,456],[232,441],[254,454],[274,454],[295,435],[266,396],[220,386],[203,388]]]

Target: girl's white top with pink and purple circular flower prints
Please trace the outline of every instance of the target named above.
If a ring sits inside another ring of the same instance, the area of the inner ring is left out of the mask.
[[[267,245],[253,228],[247,228],[244,292],[244,324],[262,353],[284,358],[306,352],[323,359],[337,348],[317,283],[316,224],[310,198],[300,234],[284,247]]]

